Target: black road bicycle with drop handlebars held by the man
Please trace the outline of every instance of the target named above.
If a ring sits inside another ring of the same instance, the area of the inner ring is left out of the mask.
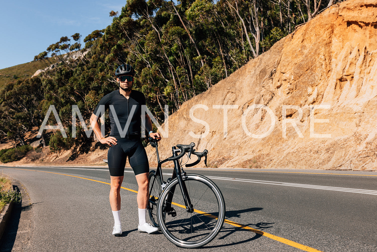
[[[184,248],[201,247],[212,241],[220,232],[225,219],[225,202],[220,189],[205,176],[186,174],[181,159],[192,154],[198,160],[185,167],[198,164],[202,157],[207,166],[207,150],[195,152],[195,143],[177,144],[172,156],[160,161],[158,140],[149,138],[156,148],[157,170],[149,172],[148,212],[150,220],[173,244]],[[161,165],[173,161],[172,177],[164,181]],[[177,190],[176,187],[178,186]]]

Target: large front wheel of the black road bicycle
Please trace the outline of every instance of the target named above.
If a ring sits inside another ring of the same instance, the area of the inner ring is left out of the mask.
[[[224,197],[216,184],[205,176],[187,174],[184,182],[195,209],[194,212],[190,213],[186,210],[178,179],[175,178],[166,186],[158,201],[159,226],[166,238],[176,246],[201,247],[212,241],[224,224]],[[176,186],[178,187],[175,189]],[[175,217],[164,212],[167,196],[172,189],[175,189],[172,194]]]

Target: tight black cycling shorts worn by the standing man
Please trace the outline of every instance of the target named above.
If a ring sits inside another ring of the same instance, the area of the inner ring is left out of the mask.
[[[118,144],[109,147],[107,152],[110,176],[124,176],[127,156],[135,175],[149,172],[148,157],[141,139],[116,138]]]

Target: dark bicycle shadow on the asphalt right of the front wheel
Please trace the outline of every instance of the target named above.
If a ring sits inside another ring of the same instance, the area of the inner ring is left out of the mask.
[[[244,210],[227,211],[225,213],[224,225],[227,226],[226,225],[227,219],[230,218],[230,217],[240,218],[242,213],[249,213],[249,212],[258,211],[258,210],[262,210],[262,209],[263,208],[261,208],[261,207],[252,207],[252,208],[248,208],[248,209],[244,209]],[[241,243],[247,243],[249,241],[256,240],[256,239],[263,236],[263,232],[261,232],[260,230],[264,230],[264,229],[268,229],[270,227],[273,227],[273,226],[271,226],[271,224],[274,224],[274,223],[264,223],[264,222],[259,222],[259,223],[256,223],[256,224],[250,223],[250,224],[247,224],[247,225],[241,225],[241,227],[224,227],[223,226],[222,229],[220,230],[219,234],[218,234],[218,237],[216,237],[216,240],[224,240],[229,235],[233,234],[234,232],[238,232],[238,231],[248,232],[249,234],[254,234],[254,236],[251,237],[251,238],[248,238],[247,240],[241,240],[241,241],[234,242],[234,243],[227,243],[227,244],[215,245],[215,246],[203,246],[203,247],[200,247],[200,248],[208,249],[208,248],[215,248],[215,247],[233,246],[233,245],[237,245],[237,244],[241,244]],[[237,223],[237,225],[238,225],[238,223]],[[245,229],[245,227],[251,227],[253,230]],[[242,237],[248,237],[248,235],[245,234],[245,235],[242,235]]]

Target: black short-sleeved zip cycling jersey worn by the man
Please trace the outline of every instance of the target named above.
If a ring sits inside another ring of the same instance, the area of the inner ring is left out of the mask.
[[[145,96],[143,93],[132,90],[129,99],[123,96],[119,90],[115,90],[110,94],[106,94],[100,103],[94,110],[94,114],[97,114],[97,110],[100,105],[105,105],[105,110],[109,109],[110,118],[110,136],[112,135],[122,135],[120,130],[123,131],[126,126],[129,115],[131,114],[133,108],[135,108],[132,117],[130,118],[130,125],[126,133],[126,138],[130,138],[129,135],[140,135],[140,125],[141,125],[141,105],[146,105]],[[110,107],[113,105],[113,108]],[[115,114],[113,113],[115,112]],[[118,118],[120,123],[120,129],[116,125],[115,118]],[[124,135],[124,134],[123,134]]]

